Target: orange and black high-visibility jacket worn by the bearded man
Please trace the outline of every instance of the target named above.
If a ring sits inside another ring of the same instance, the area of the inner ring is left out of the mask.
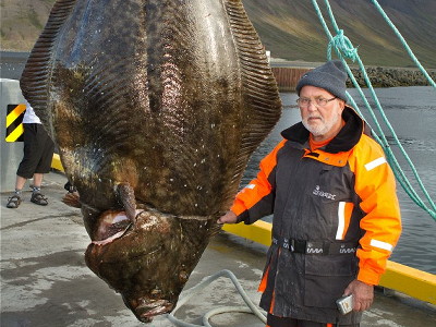
[[[259,287],[272,315],[359,323],[361,314],[341,316],[335,301],[354,279],[377,284],[398,242],[400,208],[384,152],[352,108],[342,119],[338,135],[315,150],[301,122],[284,130],[231,207],[245,223],[274,214]]]

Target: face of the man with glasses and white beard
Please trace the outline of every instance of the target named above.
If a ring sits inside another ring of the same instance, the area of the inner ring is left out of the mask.
[[[315,141],[331,138],[341,129],[344,101],[332,98],[335,96],[331,93],[311,85],[303,86],[300,90],[300,99],[310,99],[308,104],[299,105],[302,122],[307,131],[314,135]],[[323,106],[317,104],[317,99],[329,101]]]

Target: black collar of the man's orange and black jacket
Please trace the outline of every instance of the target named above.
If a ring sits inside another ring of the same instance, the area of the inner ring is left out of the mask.
[[[338,135],[327,144],[324,149],[327,153],[337,154],[340,152],[349,152],[358,144],[362,136],[365,123],[353,108],[346,105],[346,108],[342,111],[342,119],[346,124],[339,131]],[[304,128],[302,122],[299,122],[281,132],[281,136],[286,140],[302,145],[308,142],[308,135],[310,132]]]

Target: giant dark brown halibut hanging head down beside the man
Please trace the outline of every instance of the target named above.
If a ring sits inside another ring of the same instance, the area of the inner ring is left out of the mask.
[[[280,116],[240,0],[58,0],[21,87],[80,192],[88,267],[169,312]]]

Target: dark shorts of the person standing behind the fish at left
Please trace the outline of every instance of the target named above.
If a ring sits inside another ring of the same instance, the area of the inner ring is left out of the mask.
[[[16,174],[31,179],[34,173],[47,173],[51,168],[55,144],[41,124],[23,124],[24,156]]]

